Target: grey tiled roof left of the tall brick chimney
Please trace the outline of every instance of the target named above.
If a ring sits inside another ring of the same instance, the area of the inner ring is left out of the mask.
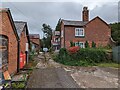
[[[83,21],[72,21],[72,20],[62,20],[64,25],[70,25],[70,26],[84,26],[87,22]]]

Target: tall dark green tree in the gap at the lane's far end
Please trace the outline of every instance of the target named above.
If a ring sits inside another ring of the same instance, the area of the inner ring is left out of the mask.
[[[50,27],[50,25],[47,25],[45,23],[42,26],[43,26],[42,31],[44,33],[43,47],[50,48],[51,47],[51,39],[52,39],[52,28]]]

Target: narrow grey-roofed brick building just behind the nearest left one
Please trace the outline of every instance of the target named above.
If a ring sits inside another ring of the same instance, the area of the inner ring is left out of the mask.
[[[26,62],[28,62],[28,53],[30,46],[29,31],[27,27],[27,22],[23,21],[14,21],[17,34],[20,39],[20,53],[26,55]]]

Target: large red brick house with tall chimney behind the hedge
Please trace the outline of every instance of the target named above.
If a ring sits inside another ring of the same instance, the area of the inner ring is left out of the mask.
[[[91,46],[92,41],[96,46],[107,46],[110,44],[111,28],[100,17],[95,17],[89,21],[89,10],[83,8],[82,21],[61,20],[61,48],[70,47],[70,41],[76,46],[85,47],[88,41]]]

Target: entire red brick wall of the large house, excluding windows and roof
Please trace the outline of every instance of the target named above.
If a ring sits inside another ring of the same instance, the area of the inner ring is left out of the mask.
[[[80,27],[72,27],[65,26],[65,47],[70,47],[70,41],[73,42],[86,42],[92,44],[92,41],[96,43],[96,46],[106,46],[109,44],[109,38],[111,36],[111,29],[103,23],[99,18],[91,21],[84,28],[85,37],[75,37],[75,28]],[[61,39],[61,46],[63,46],[64,39]]]

